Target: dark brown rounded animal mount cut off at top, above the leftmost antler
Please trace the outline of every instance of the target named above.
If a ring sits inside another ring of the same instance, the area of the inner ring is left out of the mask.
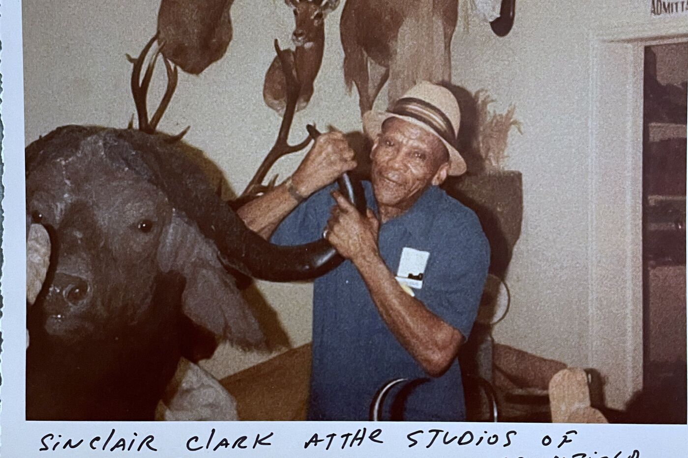
[[[162,55],[197,75],[224,56],[232,39],[234,0],[162,0],[158,42]]]

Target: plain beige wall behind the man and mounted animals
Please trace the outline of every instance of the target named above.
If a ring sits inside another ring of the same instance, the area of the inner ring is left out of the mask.
[[[131,2],[133,3],[133,2]],[[645,4],[647,3],[647,5]],[[27,142],[67,123],[125,126],[133,102],[126,52],[137,54],[155,30],[158,1],[136,9],[112,1],[25,1]],[[327,49],[310,106],[294,121],[360,126],[355,96],[345,93],[338,36],[341,7],[327,19]],[[202,76],[180,75],[162,130],[191,124],[187,141],[206,151],[243,190],[272,145],[279,118],[261,98],[272,39],[286,45],[292,14],[281,0],[237,0],[234,38],[224,59]],[[524,135],[513,133],[508,168],[524,178],[524,222],[508,275],[513,301],[498,341],[571,365],[590,363],[590,36],[607,27],[659,27],[647,2],[532,2],[517,5],[506,38],[488,25],[460,23],[453,41],[453,82],[487,89],[497,111],[508,104]],[[276,31],[277,29],[277,31]],[[151,95],[158,100],[161,87]],[[288,173],[300,156],[284,159]],[[614,176],[610,176],[614,180]],[[310,288],[261,283],[293,345],[310,340]],[[621,291],[619,291],[621,293]],[[210,367],[224,376],[264,358],[224,352]]]

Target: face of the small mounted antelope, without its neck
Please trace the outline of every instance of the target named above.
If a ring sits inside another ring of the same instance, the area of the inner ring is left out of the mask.
[[[311,43],[321,42],[325,36],[325,16],[334,11],[339,0],[284,0],[294,10],[296,28],[292,41],[297,47],[310,47]],[[311,45],[312,46],[312,45]]]

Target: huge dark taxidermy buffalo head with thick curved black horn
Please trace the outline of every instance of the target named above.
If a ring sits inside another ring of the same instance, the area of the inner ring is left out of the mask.
[[[50,235],[28,308],[29,419],[152,419],[184,317],[241,346],[264,341],[230,273],[289,281],[332,268],[322,243],[278,247],[247,229],[185,148],[97,126],[26,148],[27,221]]]

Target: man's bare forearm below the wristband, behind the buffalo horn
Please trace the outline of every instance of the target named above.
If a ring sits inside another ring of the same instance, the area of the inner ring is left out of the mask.
[[[279,222],[298,205],[287,190],[287,183],[275,187],[237,210],[239,218],[255,233],[268,240]]]

